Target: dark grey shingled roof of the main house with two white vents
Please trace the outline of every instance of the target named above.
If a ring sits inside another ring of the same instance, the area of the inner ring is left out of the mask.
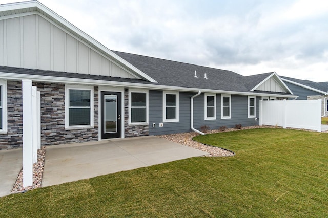
[[[112,82],[127,82],[138,84],[152,84],[161,86],[173,86],[178,88],[192,88],[203,90],[221,90],[231,92],[251,93],[257,84],[270,76],[272,73],[265,73],[253,76],[242,76],[232,71],[198,66],[190,63],[177,62],[172,60],[130,54],[113,51],[115,54],[131,63],[134,67],[144,72],[158,83],[152,83],[142,79],[127,79],[118,77],[108,77],[89,74],[77,74],[67,72],[56,72],[46,70],[35,70],[14,67],[1,67],[0,72],[53,76],[63,78],[92,79]],[[197,78],[194,76],[197,72]],[[204,76],[207,78],[204,78]],[[254,92],[260,93],[260,92]],[[263,92],[265,93],[265,92]],[[279,95],[289,95],[286,93],[272,93]]]

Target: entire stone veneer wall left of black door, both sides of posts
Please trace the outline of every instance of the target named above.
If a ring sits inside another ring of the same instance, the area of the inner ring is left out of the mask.
[[[65,129],[65,84],[33,82],[41,93],[41,144],[98,140],[98,86],[94,86],[94,128]],[[0,150],[23,146],[22,81],[8,81],[8,132],[0,134]]]

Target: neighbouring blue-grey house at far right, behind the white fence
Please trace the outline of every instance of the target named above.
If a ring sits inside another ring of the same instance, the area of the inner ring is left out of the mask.
[[[313,82],[280,76],[290,90],[298,96],[296,100],[322,99],[322,116],[328,116],[328,82]]]

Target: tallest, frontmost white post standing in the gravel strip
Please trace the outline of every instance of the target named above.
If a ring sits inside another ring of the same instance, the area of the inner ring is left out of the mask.
[[[22,80],[23,96],[23,186],[33,184],[32,81]]]

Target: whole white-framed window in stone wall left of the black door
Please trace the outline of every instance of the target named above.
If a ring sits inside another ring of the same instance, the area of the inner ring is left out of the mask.
[[[66,86],[65,127],[93,127],[93,87]]]

